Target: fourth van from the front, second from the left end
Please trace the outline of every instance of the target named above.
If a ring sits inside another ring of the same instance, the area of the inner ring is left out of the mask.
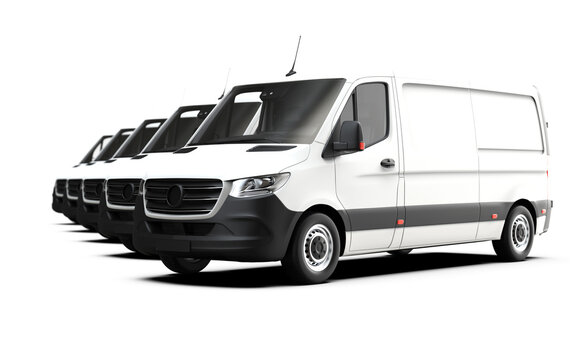
[[[81,166],[74,167],[70,169],[69,173],[65,177],[65,197],[62,206],[63,214],[72,221],[77,221],[77,200],[79,199],[81,191],[81,180],[83,173],[90,166],[96,163],[109,160],[121,145],[127,140],[127,138],[132,134],[135,129],[121,129],[109,140],[107,145],[101,150],[101,152],[93,159],[93,161]]]

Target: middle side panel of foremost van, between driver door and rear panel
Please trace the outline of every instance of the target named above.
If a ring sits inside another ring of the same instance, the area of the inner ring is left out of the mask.
[[[475,240],[479,178],[469,90],[398,82],[398,91],[406,208],[401,247]]]

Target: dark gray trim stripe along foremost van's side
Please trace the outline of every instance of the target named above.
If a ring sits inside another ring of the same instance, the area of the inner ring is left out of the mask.
[[[535,201],[536,217],[544,216],[542,209],[548,209],[547,201]],[[398,219],[404,220],[404,227],[460,224],[478,221],[505,220],[513,203],[488,202],[443,205],[417,205],[347,210],[349,222],[347,231],[390,229]],[[493,219],[493,214],[497,218]]]

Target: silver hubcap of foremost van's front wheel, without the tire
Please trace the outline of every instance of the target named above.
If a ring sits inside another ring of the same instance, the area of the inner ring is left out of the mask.
[[[329,266],[333,254],[333,237],[326,226],[313,225],[305,234],[304,245],[304,260],[309,269],[323,271]]]

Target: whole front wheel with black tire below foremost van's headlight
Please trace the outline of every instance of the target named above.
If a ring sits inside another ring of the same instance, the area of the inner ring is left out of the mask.
[[[335,223],[328,216],[315,213],[297,225],[281,263],[295,283],[318,284],[332,275],[339,253],[340,236]]]

